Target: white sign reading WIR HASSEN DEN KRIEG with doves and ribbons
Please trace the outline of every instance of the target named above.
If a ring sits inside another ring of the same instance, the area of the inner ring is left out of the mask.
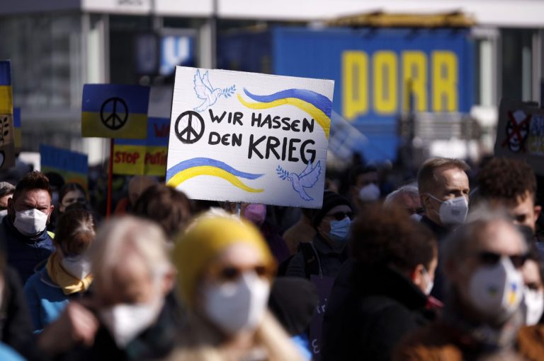
[[[334,81],[176,67],[166,181],[191,199],[320,208]]]

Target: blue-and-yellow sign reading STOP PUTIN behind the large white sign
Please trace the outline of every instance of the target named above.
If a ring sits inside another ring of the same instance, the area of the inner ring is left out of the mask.
[[[149,117],[147,139],[115,139],[113,173],[164,177],[169,128],[169,118]]]

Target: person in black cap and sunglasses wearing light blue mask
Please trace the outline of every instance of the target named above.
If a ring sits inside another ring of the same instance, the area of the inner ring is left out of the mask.
[[[323,206],[312,218],[317,233],[311,243],[300,244],[300,250],[289,261],[285,276],[335,278],[348,259],[346,245],[352,219],[351,203],[333,191],[325,191]]]

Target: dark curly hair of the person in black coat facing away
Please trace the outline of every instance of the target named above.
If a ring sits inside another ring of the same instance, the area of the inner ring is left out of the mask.
[[[350,246],[351,255],[363,266],[394,266],[402,271],[413,271],[419,264],[429,269],[438,247],[431,230],[396,205],[373,205],[358,216],[351,228]]]

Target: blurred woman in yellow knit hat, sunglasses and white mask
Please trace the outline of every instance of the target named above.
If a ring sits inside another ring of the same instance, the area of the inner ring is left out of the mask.
[[[171,360],[302,360],[267,310],[276,264],[254,225],[200,218],[179,237],[174,263],[188,314]]]

